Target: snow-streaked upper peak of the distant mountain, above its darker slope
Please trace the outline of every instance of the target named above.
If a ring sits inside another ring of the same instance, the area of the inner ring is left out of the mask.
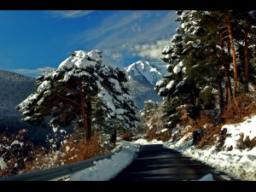
[[[159,81],[163,75],[166,75],[166,65],[158,64],[154,65],[148,61],[137,61],[130,66],[125,67],[126,73],[129,75],[129,79],[132,78],[144,78],[147,79],[150,84],[155,84]],[[141,77],[138,77],[141,76]]]

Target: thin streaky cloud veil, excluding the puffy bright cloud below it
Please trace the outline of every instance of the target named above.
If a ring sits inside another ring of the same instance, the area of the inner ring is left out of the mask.
[[[102,20],[100,26],[81,32],[76,41],[83,44],[93,41],[97,49],[117,49],[123,44],[145,44],[171,38],[175,32],[172,28],[177,28],[176,16],[170,10],[116,11]]]

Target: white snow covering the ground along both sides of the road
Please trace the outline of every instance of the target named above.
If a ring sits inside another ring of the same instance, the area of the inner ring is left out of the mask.
[[[84,169],[81,172],[76,172],[70,178],[71,181],[97,181],[97,180],[109,180],[115,177],[126,166],[131,164],[131,161],[137,156],[137,151],[140,145],[144,144],[157,144],[162,143],[167,148],[173,148],[185,156],[189,156],[195,160],[201,160],[207,165],[217,168],[223,172],[240,178],[241,180],[256,180],[256,148],[251,150],[240,150],[236,147],[240,134],[244,134],[244,138],[249,136],[250,139],[256,137],[256,115],[245,119],[240,124],[224,125],[227,128],[227,134],[229,137],[224,142],[224,150],[217,152],[215,146],[207,148],[205,150],[196,149],[191,146],[192,141],[183,143],[184,138],[178,142],[168,141],[166,143],[160,141],[148,142],[145,139],[138,139],[136,142],[121,142],[122,150],[119,153],[115,153],[110,160],[99,160],[95,162],[96,166]],[[232,150],[226,149],[230,146]],[[212,181],[212,175],[208,174],[198,181]]]

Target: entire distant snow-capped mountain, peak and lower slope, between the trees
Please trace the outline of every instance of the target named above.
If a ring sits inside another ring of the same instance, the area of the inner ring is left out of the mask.
[[[138,110],[143,109],[144,102],[153,100],[162,101],[154,91],[154,84],[167,74],[166,64],[152,64],[148,61],[137,61],[130,66],[125,67],[128,75],[128,88],[131,90],[131,96],[137,102]]]

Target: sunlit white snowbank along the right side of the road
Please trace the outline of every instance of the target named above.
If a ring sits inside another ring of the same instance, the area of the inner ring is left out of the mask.
[[[165,146],[173,148],[195,160],[201,160],[207,165],[241,180],[256,181],[256,148],[254,147],[251,150],[249,148],[245,150],[237,148],[241,133],[244,135],[243,138],[247,136],[250,139],[256,137],[255,125],[256,115],[245,119],[240,124],[224,125],[222,129],[227,129],[228,137],[224,141],[224,150],[219,152],[216,151],[216,146],[202,150],[191,146],[191,140],[185,143],[184,141],[191,137],[191,133],[177,142],[168,141]],[[228,151],[227,148],[230,146],[233,149]]]

